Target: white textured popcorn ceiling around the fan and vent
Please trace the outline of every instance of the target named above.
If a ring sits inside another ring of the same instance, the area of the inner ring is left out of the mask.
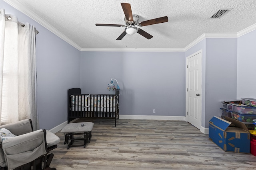
[[[256,23],[256,0],[5,0],[62,37],[86,49],[182,49],[204,33],[238,33]],[[116,38],[124,27],[97,27],[96,23],[124,24],[121,3],[131,4],[139,21],[168,16],[167,23],[140,27],[140,34]],[[209,19],[222,8],[233,8],[220,19]],[[40,31],[40,30],[38,30]]]

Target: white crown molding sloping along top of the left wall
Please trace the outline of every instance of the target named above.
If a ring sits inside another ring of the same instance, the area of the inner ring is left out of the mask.
[[[6,2],[10,6],[14,7],[16,10],[19,10],[20,12],[27,15],[28,17],[32,18],[34,21],[40,23],[43,27],[45,27],[46,29],[48,29],[49,31],[51,31],[52,33],[54,33],[55,35],[57,35],[58,37],[60,37],[61,39],[63,39],[64,41],[66,41],[67,43],[69,43],[70,45],[72,45],[73,47],[75,47],[76,49],[81,51],[81,47],[79,45],[77,45],[76,43],[74,43],[74,41],[72,41],[71,39],[66,37],[64,34],[60,33],[60,31],[58,31],[56,28],[52,27],[52,25],[50,25],[48,22],[44,21],[42,18],[40,18],[38,15],[36,15],[30,9],[26,8],[24,5],[22,5],[17,0],[4,0],[4,2]]]

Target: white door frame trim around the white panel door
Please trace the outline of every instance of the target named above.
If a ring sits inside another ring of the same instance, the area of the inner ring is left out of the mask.
[[[199,50],[199,51],[197,51],[196,53],[193,53],[192,55],[189,55],[188,57],[186,57],[186,67],[187,67],[187,65],[188,65],[188,59],[190,58],[190,57],[193,57],[194,55],[197,55],[197,54],[199,54],[199,53],[201,53],[201,68],[202,68],[202,70],[203,70],[203,67],[202,67],[202,50]],[[203,71],[202,71],[202,77],[203,77]],[[201,78],[202,78],[201,77]],[[202,79],[203,80],[203,79]],[[188,93],[187,93],[187,88],[188,88],[188,74],[187,74],[187,68],[186,68],[186,118],[185,118],[185,121],[188,121]],[[202,84],[201,84],[201,90],[203,91],[203,89],[202,89]],[[201,95],[202,95],[202,92],[201,92]],[[201,100],[201,113],[202,113],[202,100]],[[201,125],[200,125],[201,127],[202,127],[202,115],[201,115]],[[201,128],[200,128],[200,131],[201,131]]]

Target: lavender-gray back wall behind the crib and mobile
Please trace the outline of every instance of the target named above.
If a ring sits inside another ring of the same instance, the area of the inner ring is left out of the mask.
[[[116,78],[120,115],[185,116],[184,63],[184,52],[82,52],[82,92],[111,93]]]

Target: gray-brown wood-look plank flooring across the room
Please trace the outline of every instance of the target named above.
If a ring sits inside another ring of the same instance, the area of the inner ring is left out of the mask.
[[[57,170],[256,170],[256,156],[224,152],[186,121],[78,119],[94,122],[91,142],[52,150]],[[80,141],[74,141],[74,145]]]

